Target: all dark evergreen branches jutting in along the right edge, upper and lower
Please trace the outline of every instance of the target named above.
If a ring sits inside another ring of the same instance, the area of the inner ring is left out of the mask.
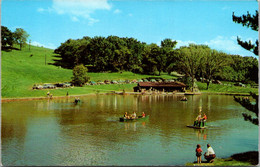
[[[242,17],[237,17],[234,15],[233,12],[233,21],[235,23],[242,24],[243,26],[250,27],[254,31],[258,31],[258,11],[256,11],[255,15],[251,15],[249,12],[247,12],[247,15],[243,15]],[[237,39],[238,44],[245,48],[246,50],[249,50],[253,52],[255,55],[258,55],[258,40],[256,40],[255,44],[252,44],[251,41],[249,42],[243,42],[240,40],[240,38]],[[246,121],[250,121],[251,123],[258,125],[258,95],[251,93],[250,96],[255,99],[255,104],[252,104],[249,99],[245,98],[238,98],[234,96],[234,100],[238,102],[241,106],[249,110],[250,112],[254,113],[256,115],[255,118],[253,118],[250,114],[243,113],[243,117]]]

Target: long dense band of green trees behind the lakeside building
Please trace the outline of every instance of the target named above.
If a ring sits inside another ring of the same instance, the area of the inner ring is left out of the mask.
[[[160,75],[177,71],[192,81],[205,78],[239,82],[258,82],[258,60],[229,55],[207,45],[189,44],[176,48],[177,41],[166,38],[160,45],[134,38],[108,36],[68,39],[54,53],[56,65],[72,69],[83,64],[92,72],[131,71]]]

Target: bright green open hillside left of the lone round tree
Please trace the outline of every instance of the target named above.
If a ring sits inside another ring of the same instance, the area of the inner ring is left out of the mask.
[[[46,55],[46,65],[45,65]],[[31,46],[22,51],[1,52],[2,97],[41,96],[43,91],[33,91],[35,83],[70,81],[72,71],[49,65],[53,63],[53,50]]]

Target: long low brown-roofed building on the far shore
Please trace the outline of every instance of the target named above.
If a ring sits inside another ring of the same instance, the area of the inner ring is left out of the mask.
[[[182,82],[139,82],[134,87],[134,92],[141,92],[142,90],[157,90],[164,92],[184,92],[187,85]]]

